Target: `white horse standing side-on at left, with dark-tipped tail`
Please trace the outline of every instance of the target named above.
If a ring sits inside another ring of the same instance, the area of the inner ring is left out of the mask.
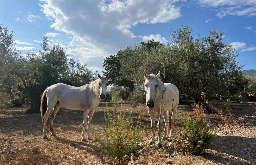
[[[91,140],[90,125],[92,116],[95,109],[98,107],[100,100],[105,99],[108,77],[108,74],[102,77],[98,74],[97,80],[81,87],[58,83],[46,88],[42,95],[40,107],[41,118],[44,125],[43,138],[47,139],[46,126],[47,128],[50,128],[51,136],[55,136],[55,133],[53,132],[53,120],[56,113],[59,111],[59,108],[64,106],[71,110],[84,111],[82,141],[86,141],[85,127],[87,119],[88,126],[86,134],[87,139]],[[50,126],[47,122],[49,116]]]

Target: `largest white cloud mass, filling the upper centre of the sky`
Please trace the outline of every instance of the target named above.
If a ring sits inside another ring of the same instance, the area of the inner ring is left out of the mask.
[[[171,22],[181,17],[180,7],[174,4],[177,1],[93,0],[74,3],[73,0],[41,0],[41,2],[43,13],[49,20],[53,20],[50,27],[74,37],[69,44],[64,44],[67,54],[86,63],[92,58],[104,58],[116,54],[127,45],[134,45],[146,39],[166,43],[167,40],[159,34],[136,36],[130,28],[138,24]]]

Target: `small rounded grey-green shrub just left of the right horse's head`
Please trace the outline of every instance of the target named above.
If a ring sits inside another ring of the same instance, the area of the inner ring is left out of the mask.
[[[132,107],[137,107],[139,104],[145,105],[144,89],[141,86],[136,86],[129,96],[129,103]]]

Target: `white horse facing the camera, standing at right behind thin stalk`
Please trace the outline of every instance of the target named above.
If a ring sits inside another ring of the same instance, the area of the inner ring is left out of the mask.
[[[161,130],[162,127],[162,117],[164,116],[164,134],[162,137],[163,139],[166,139],[166,127],[168,123],[168,130],[167,134],[169,136],[173,135],[173,124],[174,124],[174,116],[177,111],[177,107],[179,104],[179,90],[177,87],[170,83],[163,83],[160,79],[160,72],[158,72],[157,75],[150,74],[147,75],[147,73],[144,71],[144,78],[145,78],[145,93],[146,93],[146,105],[148,108],[148,113],[151,119],[151,128],[152,128],[152,136],[149,141],[149,144],[154,143],[155,139],[155,113],[160,113],[160,106],[162,106],[162,111],[160,118],[158,120],[157,128],[158,130]],[[160,102],[162,100],[162,103],[160,105]],[[171,111],[171,114],[170,114]],[[167,113],[171,115],[171,118],[167,118]],[[157,145],[159,145],[161,142],[161,136],[158,136],[157,139]]]

